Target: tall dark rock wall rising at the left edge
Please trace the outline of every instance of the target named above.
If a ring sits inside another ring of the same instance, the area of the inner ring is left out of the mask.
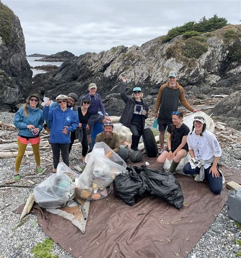
[[[26,60],[20,21],[0,2],[0,106],[14,108],[23,102],[32,83],[32,71]]]

